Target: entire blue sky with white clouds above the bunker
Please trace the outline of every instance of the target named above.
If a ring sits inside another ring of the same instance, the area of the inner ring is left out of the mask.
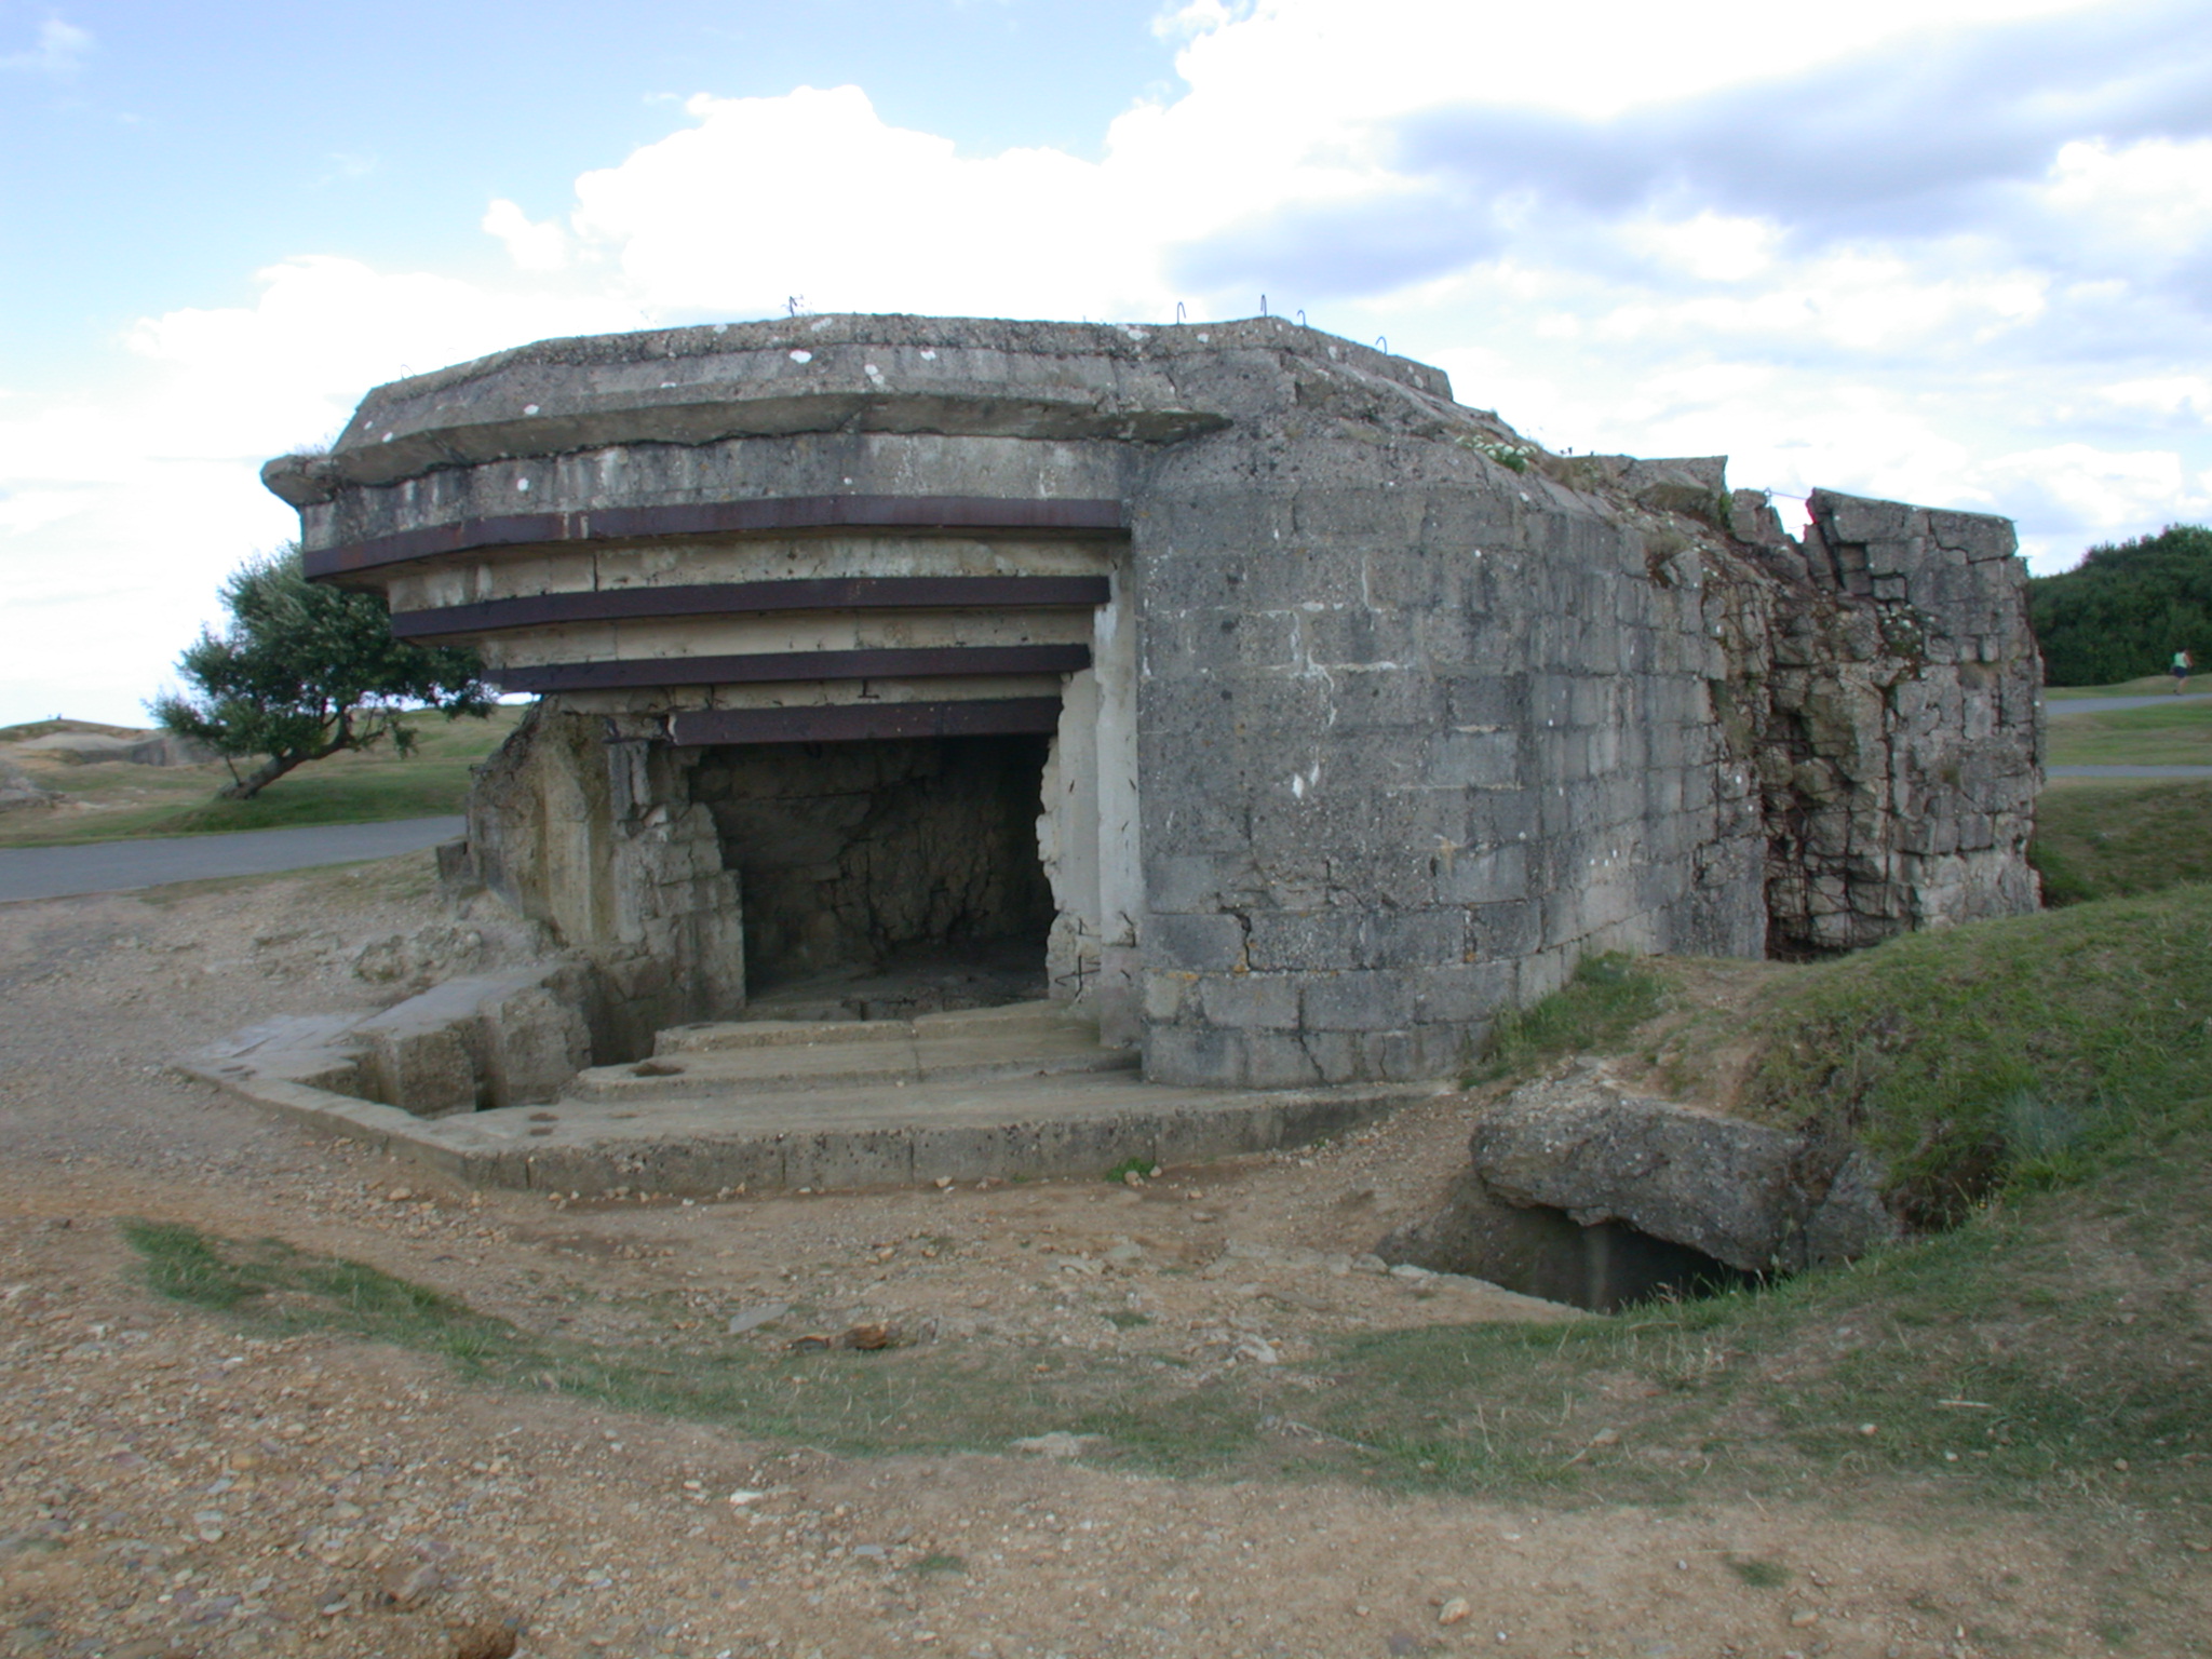
[[[0,723],[146,723],[380,380],[1285,316],[1553,449],[2212,520],[2203,0],[0,0]]]

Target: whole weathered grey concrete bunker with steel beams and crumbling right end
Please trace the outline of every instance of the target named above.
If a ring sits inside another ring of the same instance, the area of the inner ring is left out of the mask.
[[[1152,1082],[1433,1079],[1586,951],[2035,905],[2006,520],[1790,538],[1281,319],[544,341],[263,476],[540,699],[447,867],[591,964],[599,1064],[1042,929]]]

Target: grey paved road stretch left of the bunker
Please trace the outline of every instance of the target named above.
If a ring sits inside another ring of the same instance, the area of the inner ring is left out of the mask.
[[[208,876],[268,876],[310,865],[352,865],[436,847],[458,836],[465,825],[467,818],[460,816],[394,818],[307,830],[241,830],[228,836],[95,841],[86,847],[0,847],[0,902],[117,894]]]

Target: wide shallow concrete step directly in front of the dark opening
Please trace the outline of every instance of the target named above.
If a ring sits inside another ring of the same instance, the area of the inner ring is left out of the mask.
[[[650,1060],[577,1073],[564,1097],[628,1102],[905,1088],[1124,1073],[1135,1071],[1139,1060],[1133,1048],[1099,1046],[1095,1024],[1073,1020],[1053,1004],[918,1020],[739,1020],[661,1035]]]

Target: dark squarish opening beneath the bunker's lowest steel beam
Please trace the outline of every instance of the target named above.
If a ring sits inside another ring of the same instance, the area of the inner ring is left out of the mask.
[[[909,1018],[1046,993],[1048,739],[728,743],[692,799],[745,918],[757,1018]]]

